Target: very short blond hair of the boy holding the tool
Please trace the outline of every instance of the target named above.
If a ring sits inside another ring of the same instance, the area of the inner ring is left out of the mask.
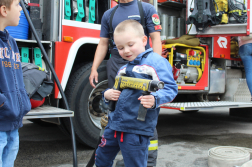
[[[124,32],[129,28],[133,28],[134,31],[136,32],[136,35],[138,36],[144,36],[144,29],[143,26],[136,20],[124,20],[121,23],[119,23],[116,28],[114,33],[120,33],[120,32]]]

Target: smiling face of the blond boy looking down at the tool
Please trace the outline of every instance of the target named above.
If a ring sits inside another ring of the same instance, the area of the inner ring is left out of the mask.
[[[114,34],[114,42],[121,57],[133,61],[140,53],[145,51],[147,37],[140,37],[132,28]]]

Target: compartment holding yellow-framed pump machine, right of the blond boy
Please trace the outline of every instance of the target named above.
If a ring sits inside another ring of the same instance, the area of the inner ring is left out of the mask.
[[[181,43],[164,44],[167,59],[173,67],[173,77],[179,89],[205,90],[208,87],[207,46]]]

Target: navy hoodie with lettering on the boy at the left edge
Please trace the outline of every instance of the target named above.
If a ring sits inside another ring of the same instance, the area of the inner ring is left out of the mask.
[[[26,93],[20,54],[16,41],[4,30],[0,31],[0,131],[23,126],[23,116],[31,110]]]

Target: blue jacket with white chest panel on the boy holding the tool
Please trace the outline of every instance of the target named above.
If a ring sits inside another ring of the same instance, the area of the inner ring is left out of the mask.
[[[147,57],[146,57],[147,56]],[[173,79],[172,68],[167,59],[154,53],[152,48],[138,55],[138,57],[121,67],[117,75],[163,81],[164,89],[152,92],[156,105],[148,109],[145,121],[137,120],[141,90],[124,89],[117,101],[115,111],[109,114],[107,127],[112,130],[153,136],[157,125],[159,105],[171,102],[178,93],[178,86]]]

